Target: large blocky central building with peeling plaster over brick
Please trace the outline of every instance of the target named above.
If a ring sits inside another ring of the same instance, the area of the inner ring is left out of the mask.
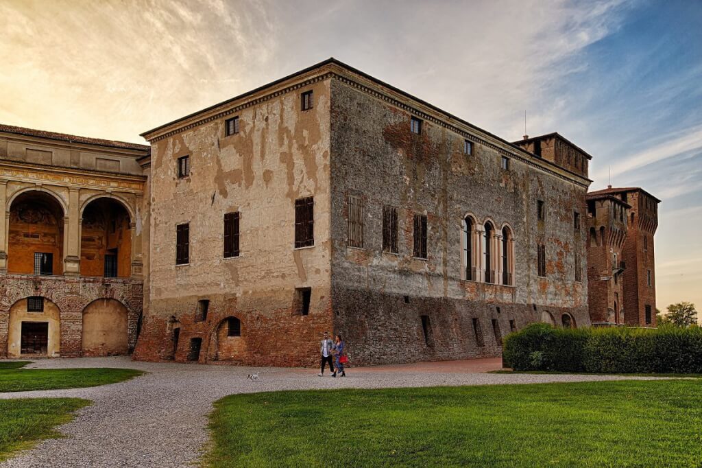
[[[472,358],[590,325],[562,137],[535,154],[333,59],[143,136],[137,359],[313,365],[324,330],[356,364]]]

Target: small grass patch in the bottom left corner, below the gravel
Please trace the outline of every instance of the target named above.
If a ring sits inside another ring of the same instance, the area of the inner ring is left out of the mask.
[[[37,441],[60,437],[53,428],[69,422],[75,410],[89,404],[80,398],[0,400],[0,461]]]

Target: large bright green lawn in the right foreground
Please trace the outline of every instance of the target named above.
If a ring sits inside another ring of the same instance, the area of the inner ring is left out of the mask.
[[[242,394],[209,427],[216,467],[702,464],[695,380]]]

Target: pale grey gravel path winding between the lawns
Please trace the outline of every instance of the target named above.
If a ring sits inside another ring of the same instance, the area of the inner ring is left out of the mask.
[[[29,368],[133,368],[150,372],[128,382],[87,389],[24,391],[0,398],[67,396],[93,405],[60,428],[66,438],[39,443],[0,467],[183,467],[197,464],[208,441],[207,415],[223,396],[293,389],[533,384],[632,379],[597,375],[446,372],[446,364],[350,369],[348,377],[317,377],[317,370],[224,365],[142,363],[126,357],[39,360]],[[255,382],[246,375],[258,372]],[[640,377],[646,379],[647,377]],[[651,377],[648,377],[651,378]]]

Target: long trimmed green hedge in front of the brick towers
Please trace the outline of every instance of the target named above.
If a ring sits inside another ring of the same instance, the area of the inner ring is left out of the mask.
[[[503,361],[514,370],[702,374],[702,328],[571,330],[534,323],[505,338]]]

